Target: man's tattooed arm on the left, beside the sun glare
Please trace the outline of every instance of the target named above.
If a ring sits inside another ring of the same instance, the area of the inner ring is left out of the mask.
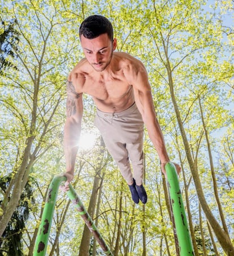
[[[63,145],[66,160],[66,173],[64,173],[64,176],[67,177],[67,182],[63,190],[68,189],[68,184],[73,179],[83,117],[82,93],[75,91],[71,81],[67,81],[66,115]]]

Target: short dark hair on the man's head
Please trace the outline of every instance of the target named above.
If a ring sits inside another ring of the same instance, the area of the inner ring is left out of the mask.
[[[94,39],[105,33],[113,41],[112,24],[106,17],[101,15],[89,16],[80,25],[79,35],[80,37],[83,35],[86,39]]]

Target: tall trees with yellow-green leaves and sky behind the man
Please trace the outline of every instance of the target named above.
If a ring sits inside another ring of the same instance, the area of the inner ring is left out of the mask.
[[[118,51],[146,66],[195,255],[233,252],[233,1],[1,1],[0,255],[32,255],[47,188],[65,170],[66,78],[83,58],[79,25],[107,16]],[[84,100],[73,181],[115,255],[176,255],[166,181],[145,132],[148,203],[135,205]],[[88,143],[87,136],[84,139]],[[164,193],[164,192],[165,193]],[[12,217],[11,217],[12,216]],[[59,193],[47,255],[103,255]]]

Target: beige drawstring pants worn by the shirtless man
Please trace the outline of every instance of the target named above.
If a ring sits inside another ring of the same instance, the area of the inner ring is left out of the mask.
[[[94,124],[127,183],[131,184],[134,177],[136,184],[141,185],[144,170],[144,122],[136,104],[119,113],[106,113],[97,109]]]

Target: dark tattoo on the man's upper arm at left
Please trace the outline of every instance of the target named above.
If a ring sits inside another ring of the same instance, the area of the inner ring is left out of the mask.
[[[79,99],[80,93],[77,93],[72,82],[67,81],[67,117],[76,114],[76,99]]]

